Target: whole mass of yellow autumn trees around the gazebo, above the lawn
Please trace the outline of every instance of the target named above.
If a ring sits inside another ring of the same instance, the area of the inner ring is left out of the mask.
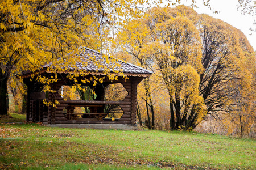
[[[238,2],[255,13],[247,1]],[[26,103],[16,74],[49,62],[60,69],[57,59],[84,45],[153,71],[138,86],[139,125],[255,137],[255,52],[232,25],[183,5],[141,7],[157,1],[1,3],[1,114],[7,92],[14,101],[9,112],[21,113]],[[69,88],[69,97],[76,89]]]

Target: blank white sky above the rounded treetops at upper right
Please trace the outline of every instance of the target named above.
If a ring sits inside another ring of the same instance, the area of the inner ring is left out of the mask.
[[[256,17],[251,15],[243,15],[240,11],[237,11],[238,0],[210,0],[210,6],[212,10],[203,5],[202,0],[197,0],[197,8],[194,10],[199,14],[208,14],[213,18],[218,18],[226,23],[229,23],[233,27],[240,29],[249,40],[251,46],[256,50],[256,32],[252,32],[249,28],[256,28],[253,25]],[[184,1],[181,1],[181,3]],[[191,3],[185,2],[184,5],[190,5]],[[214,11],[220,11],[219,14],[214,14]]]

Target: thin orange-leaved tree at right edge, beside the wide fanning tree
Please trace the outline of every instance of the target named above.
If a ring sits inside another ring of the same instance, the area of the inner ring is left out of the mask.
[[[245,54],[240,62],[239,79],[228,82],[227,90],[234,91],[229,97],[224,115],[217,118],[228,134],[254,137],[256,132],[256,58],[255,53]],[[228,123],[227,123],[228,122]]]

